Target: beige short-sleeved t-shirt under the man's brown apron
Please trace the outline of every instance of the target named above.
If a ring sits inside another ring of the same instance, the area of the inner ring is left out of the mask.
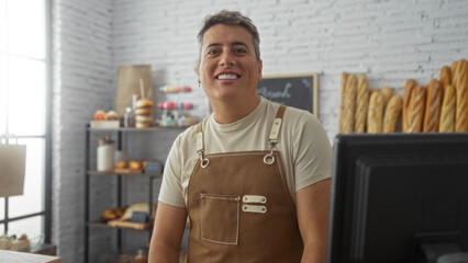
[[[261,98],[250,114],[235,123],[219,124],[213,114],[209,115],[202,124],[204,153],[269,150],[268,137],[278,107],[278,103]],[[174,142],[159,202],[186,207],[190,174],[199,160],[196,134],[192,126]],[[287,107],[275,150],[280,151],[290,193],[331,176],[332,148],[322,124],[310,112]]]

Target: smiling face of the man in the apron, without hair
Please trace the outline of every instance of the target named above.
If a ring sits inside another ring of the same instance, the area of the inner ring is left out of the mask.
[[[216,24],[203,35],[198,78],[211,102],[257,96],[261,60],[252,34],[239,25]]]

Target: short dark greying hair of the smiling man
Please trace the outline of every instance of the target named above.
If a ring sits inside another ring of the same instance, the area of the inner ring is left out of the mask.
[[[249,18],[241,14],[241,12],[227,11],[227,10],[222,10],[221,12],[212,14],[212,15],[208,15],[204,19],[203,26],[198,33],[198,43],[200,45],[200,58],[201,58],[201,48],[203,45],[204,33],[211,26],[216,24],[241,25],[242,27],[250,32],[252,38],[254,41],[255,57],[257,59],[260,59],[260,35],[258,34],[258,30],[255,26],[254,22]]]

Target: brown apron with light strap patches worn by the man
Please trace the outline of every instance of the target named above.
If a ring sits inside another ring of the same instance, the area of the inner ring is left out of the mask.
[[[270,151],[203,155],[188,186],[188,262],[300,262],[303,243],[282,162],[274,151],[286,106],[269,136]]]

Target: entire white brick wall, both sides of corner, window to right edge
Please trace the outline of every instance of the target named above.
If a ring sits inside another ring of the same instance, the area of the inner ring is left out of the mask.
[[[468,58],[467,0],[55,1],[53,226],[64,262],[82,260],[83,127],[94,110],[113,107],[118,68],[149,64],[155,89],[193,87],[177,96],[157,91],[156,101],[192,101],[190,113],[203,116],[196,36],[221,9],[256,23],[264,75],[320,73],[319,114],[331,140],[342,71],[365,72],[371,88],[401,94],[406,79],[425,84]]]

